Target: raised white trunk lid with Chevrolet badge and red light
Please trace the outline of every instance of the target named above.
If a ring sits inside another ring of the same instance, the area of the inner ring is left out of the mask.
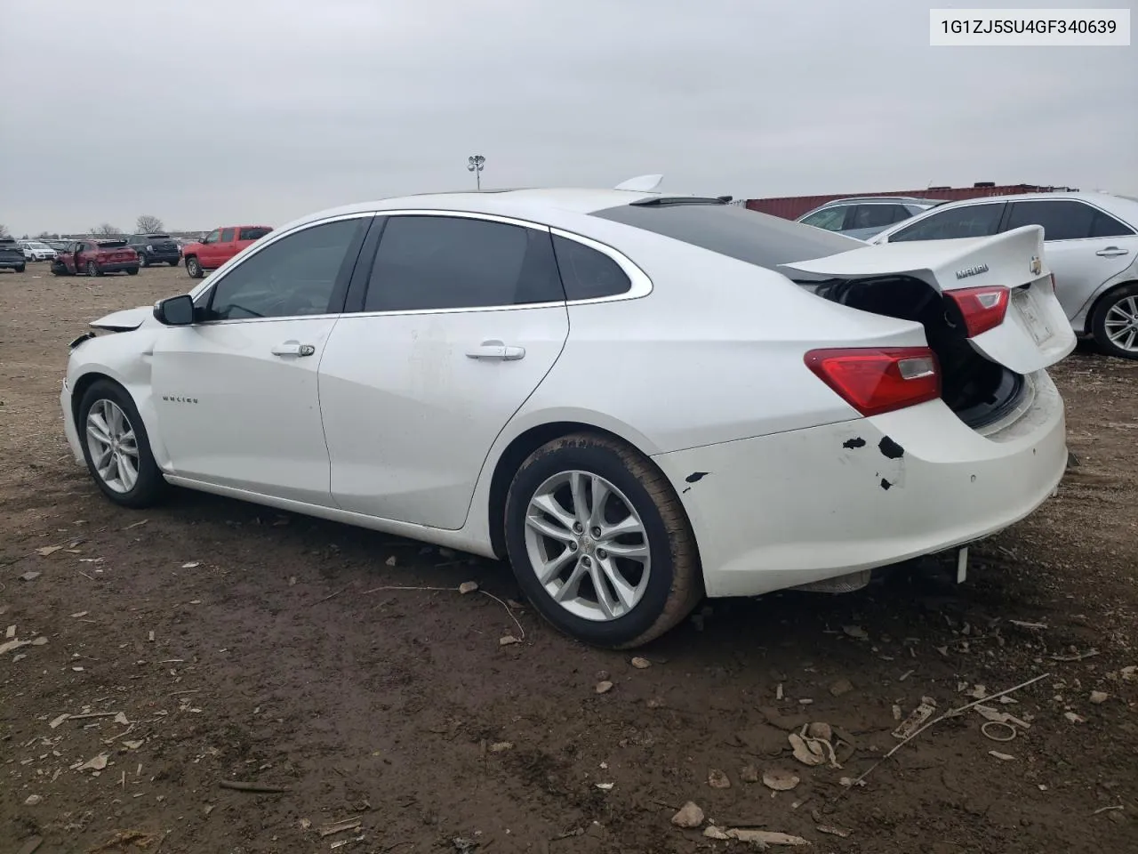
[[[908,281],[918,289],[917,282],[924,282],[945,297],[937,311],[943,307],[943,322],[957,338],[966,339],[978,354],[1017,375],[1055,364],[1075,346],[1074,331],[1055,297],[1054,280],[1044,257],[1044,230],[1039,225],[1024,225],[992,237],[864,246],[784,264],[783,269],[799,285],[819,295],[827,289],[833,293],[835,286],[851,287],[859,282],[892,282],[896,287]],[[866,311],[907,317],[900,305],[899,313],[892,313],[889,306],[842,302]],[[932,337],[935,330],[930,327],[925,322]]]

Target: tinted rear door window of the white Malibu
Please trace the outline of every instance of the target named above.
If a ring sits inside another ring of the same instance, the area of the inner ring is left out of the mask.
[[[564,301],[547,231],[460,216],[393,216],[364,311],[480,309]]]

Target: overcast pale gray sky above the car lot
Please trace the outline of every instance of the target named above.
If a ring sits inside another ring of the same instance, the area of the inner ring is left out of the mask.
[[[931,48],[932,5],[0,0],[0,222],[280,224],[472,186],[470,154],[486,186],[1138,195],[1138,47]]]

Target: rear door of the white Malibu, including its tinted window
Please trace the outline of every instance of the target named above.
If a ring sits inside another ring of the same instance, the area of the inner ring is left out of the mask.
[[[490,445],[569,334],[550,230],[399,213],[364,266],[320,366],[332,495],[460,528]]]

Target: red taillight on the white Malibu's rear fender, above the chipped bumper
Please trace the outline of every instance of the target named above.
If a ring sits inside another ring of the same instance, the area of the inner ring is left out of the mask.
[[[929,347],[811,350],[806,367],[863,416],[940,397],[940,367]]]

